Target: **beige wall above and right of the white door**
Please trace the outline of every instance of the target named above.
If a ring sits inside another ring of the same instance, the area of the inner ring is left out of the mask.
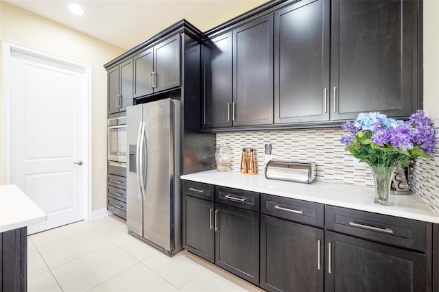
[[[5,1],[0,1],[0,27],[2,40],[92,67],[92,210],[106,208],[107,90],[102,65],[125,50]]]

